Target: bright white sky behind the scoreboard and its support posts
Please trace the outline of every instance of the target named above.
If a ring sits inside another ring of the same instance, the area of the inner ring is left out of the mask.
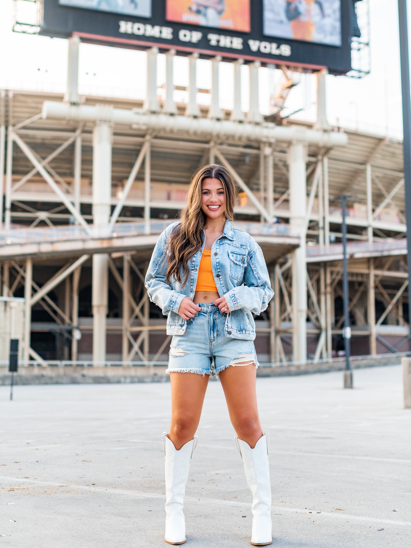
[[[23,3],[27,7],[28,2]],[[28,6],[30,8],[30,5]],[[26,8],[27,9],[27,8]],[[30,36],[12,31],[13,0],[0,2],[0,88],[64,92],[67,41]],[[401,78],[399,70],[398,12],[396,0],[370,0],[371,72],[356,79],[327,77],[329,122],[363,132],[402,138]],[[210,87],[210,62],[198,61],[199,88]],[[188,61],[175,58],[175,85],[187,85]],[[232,105],[232,66],[220,67],[220,106]],[[136,50],[81,44],[79,92],[122,98],[144,99],[145,53]],[[164,81],[164,56],[158,59],[158,84]],[[248,110],[248,67],[242,67],[243,110]],[[270,94],[278,86],[281,72],[261,68],[260,109],[269,113]],[[315,76],[301,75],[301,83],[289,94],[284,114],[313,121],[316,117]],[[185,100],[186,92],[175,92]],[[207,104],[209,95],[200,94]]]

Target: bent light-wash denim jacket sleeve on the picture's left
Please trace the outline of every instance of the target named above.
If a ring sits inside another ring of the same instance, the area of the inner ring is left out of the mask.
[[[167,260],[165,260],[165,252],[167,249],[167,233],[166,229],[158,238],[156,247],[151,256],[149,268],[147,269],[145,287],[149,294],[150,300],[155,302],[161,308],[164,315],[167,315],[170,310],[178,313],[181,301],[185,295],[176,292],[165,281],[165,271],[167,270]]]

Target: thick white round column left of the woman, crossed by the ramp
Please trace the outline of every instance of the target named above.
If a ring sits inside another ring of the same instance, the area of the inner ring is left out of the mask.
[[[93,130],[93,222],[108,225],[111,201],[112,128],[98,122]],[[106,316],[109,296],[109,255],[93,255],[93,362],[106,360]]]

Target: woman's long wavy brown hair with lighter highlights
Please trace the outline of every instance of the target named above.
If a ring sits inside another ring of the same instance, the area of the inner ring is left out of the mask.
[[[204,179],[220,179],[225,193],[226,219],[234,219],[234,206],[236,202],[236,186],[230,172],[222,165],[210,164],[197,169],[193,174],[189,190],[187,192],[187,206],[181,210],[180,224],[173,229],[168,238],[167,270],[165,279],[170,283],[173,277],[182,287],[189,278],[189,259],[195,255],[203,245],[202,230],[207,224],[207,215],[201,209],[201,184]]]

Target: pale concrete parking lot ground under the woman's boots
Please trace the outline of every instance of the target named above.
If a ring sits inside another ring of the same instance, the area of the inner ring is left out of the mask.
[[[399,366],[257,380],[270,432],[273,546],[408,548],[411,410]],[[0,387],[0,548],[164,544],[169,384]],[[221,386],[210,381],[186,489],[187,548],[250,546]]]

